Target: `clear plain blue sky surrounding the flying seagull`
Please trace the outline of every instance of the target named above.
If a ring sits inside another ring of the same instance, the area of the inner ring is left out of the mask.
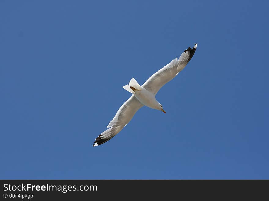
[[[268,2],[1,1],[1,179],[269,179]],[[198,43],[112,140],[130,93]]]

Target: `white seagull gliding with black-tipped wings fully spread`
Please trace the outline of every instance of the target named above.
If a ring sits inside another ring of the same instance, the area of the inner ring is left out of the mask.
[[[95,139],[93,146],[103,144],[118,134],[142,106],[148,106],[166,113],[163,106],[156,100],[155,95],[164,84],[168,83],[184,69],[193,57],[196,48],[197,43],[194,44],[193,48],[188,47],[182,52],[179,59],[175,58],[168,65],[158,70],[142,86],[134,78],[131,79],[129,84],[123,86],[125,90],[132,93],[132,96],[123,103],[115,117],[109,122],[108,129]]]

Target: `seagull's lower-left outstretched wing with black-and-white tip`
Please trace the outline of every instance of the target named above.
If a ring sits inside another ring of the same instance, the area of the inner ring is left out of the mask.
[[[132,95],[127,101],[123,103],[120,109],[117,111],[115,117],[109,122],[107,130],[102,132],[94,141],[93,146],[98,146],[110,140],[116,134],[118,134],[124,126],[133,118],[137,110],[139,110],[143,104],[139,102],[134,95]]]

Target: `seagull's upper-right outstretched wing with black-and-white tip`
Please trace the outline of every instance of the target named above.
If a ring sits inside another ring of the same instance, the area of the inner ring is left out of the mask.
[[[172,80],[187,65],[192,58],[197,44],[193,48],[188,47],[179,57],[175,58],[168,65],[154,73],[141,87],[146,88],[154,95],[160,90],[164,84]]]

